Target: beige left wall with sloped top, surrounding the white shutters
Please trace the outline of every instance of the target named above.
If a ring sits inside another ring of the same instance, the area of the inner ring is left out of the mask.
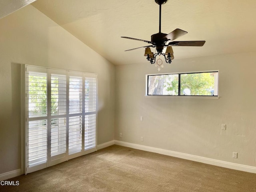
[[[0,174],[21,168],[21,64],[97,73],[98,144],[114,139],[114,65],[30,5],[0,29]]]

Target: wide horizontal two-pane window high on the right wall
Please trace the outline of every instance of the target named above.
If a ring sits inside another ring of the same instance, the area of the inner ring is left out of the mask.
[[[218,71],[147,75],[146,95],[218,96]]]

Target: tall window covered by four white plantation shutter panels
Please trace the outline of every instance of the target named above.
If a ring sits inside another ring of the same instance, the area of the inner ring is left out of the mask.
[[[26,173],[96,151],[97,75],[26,66]]]

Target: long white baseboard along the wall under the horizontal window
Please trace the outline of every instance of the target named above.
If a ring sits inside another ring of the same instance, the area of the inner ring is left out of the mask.
[[[139,150],[144,150],[148,152],[154,152],[154,153],[159,153],[159,154],[164,154],[172,157],[178,157],[186,160],[192,160],[196,162],[201,162],[205,164],[210,164],[210,165],[215,165],[219,167],[224,167],[224,168],[229,168],[229,169],[234,169],[234,170],[239,170],[239,171],[245,171],[245,172],[250,172],[250,173],[256,173],[256,167],[254,166],[247,166],[247,165],[242,165],[242,164],[236,164],[236,163],[231,163],[231,162],[226,162],[226,161],[221,161],[221,160],[216,160],[216,159],[210,159],[210,158],[205,158],[205,157],[200,157],[200,156],[195,156],[195,155],[190,155],[190,154],[185,154],[185,153],[180,153],[180,152],[175,152],[175,151],[170,151],[170,150],[164,150],[160,148],[154,148],[154,147],[148,147],[144,145],[138,145],[138,144],[133,144],[133,143],[128,143],[128,142],[122,142],[115,140],[114,144],[120,145],[120,146],[125,146],[125,147],[130,147],[134,149],[139,149]]]

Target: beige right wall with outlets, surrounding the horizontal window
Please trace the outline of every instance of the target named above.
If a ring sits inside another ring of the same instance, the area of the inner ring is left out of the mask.
[[[115,139],[256,166],[255,55],[173,60],[160,72],[148,62],[116,66]],[[146,74],[207,70],[219,70],[219,99],[145,97]]]

